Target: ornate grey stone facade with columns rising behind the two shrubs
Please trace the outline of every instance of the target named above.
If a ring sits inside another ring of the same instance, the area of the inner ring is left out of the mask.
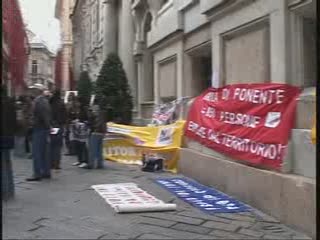
[[[135,39],[131,2],[119,0],[76,1],[71,19],[73,24],[74,79],[88,71],[96,81],[103,61],[109,53],[122,60],[135,101],[137,114],[137,78],[133,43]]]

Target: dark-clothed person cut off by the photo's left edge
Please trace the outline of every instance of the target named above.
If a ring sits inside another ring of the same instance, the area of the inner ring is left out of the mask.
[[[14,181],[11,163],[11,151],[14,148],[14,136],[17,129],[17,116],[14,99],[7,95],[6,88],[1,86],[1,190],[2,199],[14,197]]]

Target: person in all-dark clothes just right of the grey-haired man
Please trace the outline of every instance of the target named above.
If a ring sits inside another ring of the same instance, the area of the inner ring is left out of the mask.
[[[50,132],[50,162],[52,169],[61,169],[61,148],[63,146],[63,131],[66,123],[66,109],[61,99],[61,92],[56,89],[50,99],[51,126]]]

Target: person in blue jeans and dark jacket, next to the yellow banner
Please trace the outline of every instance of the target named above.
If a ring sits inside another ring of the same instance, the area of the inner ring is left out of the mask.
[[[91,133],[89,137],[89,164],[88,168],[104,168],[103,139],[107,130],[106,111],[95,105],[89,118]]]

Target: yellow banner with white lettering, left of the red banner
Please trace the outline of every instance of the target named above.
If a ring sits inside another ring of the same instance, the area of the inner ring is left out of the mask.
[[[185,121],[164,126],[136,127],[108,123],[104,158],[126,164],[139,164],[143,153],[165,159],[166,170],[176,172]]]

